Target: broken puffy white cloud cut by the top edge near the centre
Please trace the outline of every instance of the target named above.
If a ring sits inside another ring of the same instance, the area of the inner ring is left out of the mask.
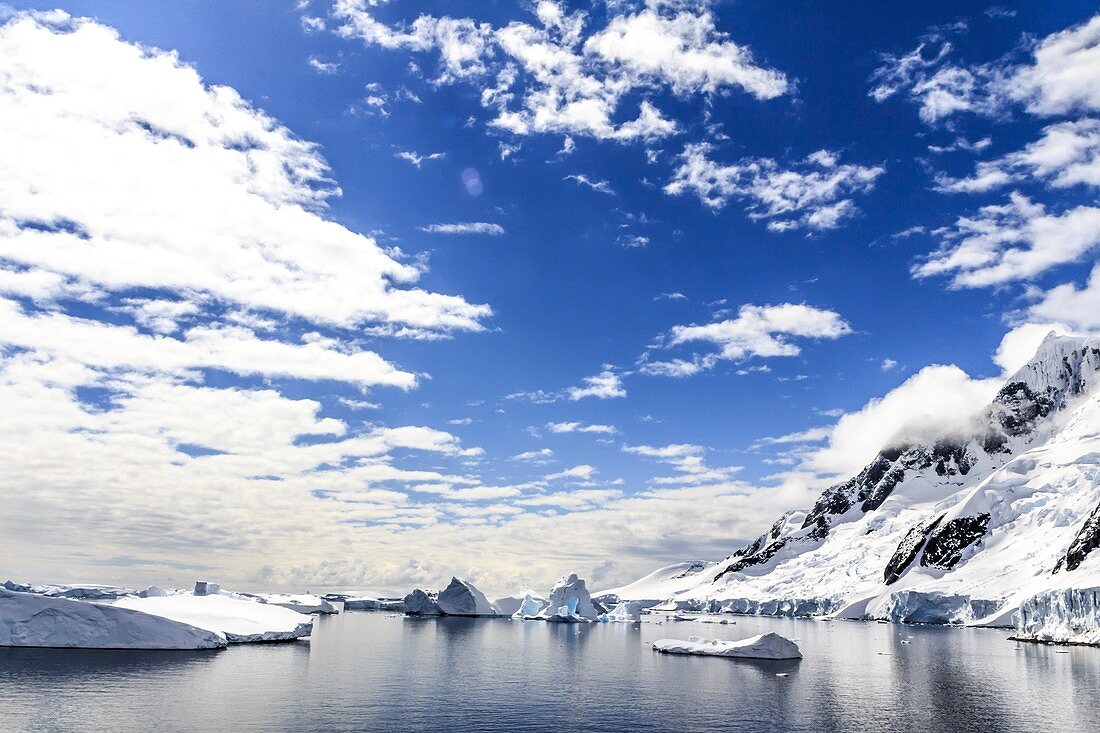
[[[714,96],[738,89],[772,99],[789,89],[783,74],[759,66],[747,47],[718,30],[705,3],[594,2],[593,12],[571,12],[541,0],[534,6],[536,22],[503,26],[427,14],[380,21],[381,7],[389,4],[336,0],[337,33],[383,48],[436,54],[437,84],[475,85],[494,116],[491,124],[516,135],[656,140],[678,127],[645,99],[636,111],[626,110],[637,92]]]

